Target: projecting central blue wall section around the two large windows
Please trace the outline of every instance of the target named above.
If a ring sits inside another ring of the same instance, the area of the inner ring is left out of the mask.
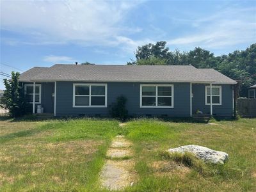
[[[116,97],[120,95],[124,95],[127,98],[127,110],[129,115],[132,116],[190,116],[189,83],[169,83],[173,84],[173,108],[165,109],[140,108],[140,84],[145,83],[107,83],[108,108],[73,108],[73,83],[79,82],[57,82],[56,116],[108,116],[109,105],[115,102]]]

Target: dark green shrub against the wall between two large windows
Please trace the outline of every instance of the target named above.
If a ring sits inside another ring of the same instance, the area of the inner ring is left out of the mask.
[[[121,95],[116,98],[116,103],[111,105],[111,116],[124,122],[128,118],[128,111],[125,107],[127,99]]]

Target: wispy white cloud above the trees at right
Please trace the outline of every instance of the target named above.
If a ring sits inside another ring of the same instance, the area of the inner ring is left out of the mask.
[[[255,8],[227,8],[202,19],[178,19],[195,27],[195,32],[169,40],[168,45],[216,49],[252,44],[256,39],[255,11]]]

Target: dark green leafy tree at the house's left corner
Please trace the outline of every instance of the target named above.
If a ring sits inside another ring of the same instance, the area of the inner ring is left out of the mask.
[[[23,84],[19,83],[19,75],[19,72],[12,72],[12,79],[3,79],[5,91],[1,106],[7,109],[12,117],[25,115],[27,109]]]

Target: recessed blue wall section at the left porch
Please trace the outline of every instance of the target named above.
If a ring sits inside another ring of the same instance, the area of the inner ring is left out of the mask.
[[[25,83],[25,84],[33,84]],[[54,97],[52,97],[52,93],[54,93],[54,83],[52,82],[36,82],[36,84],[41,84],[41,104],[35,104],[35,112],[38,105],[41,105],[44,108],[44,113],[53,113],[54,112]],[[29,110],[31,113],[33,112],[32,104],[29,104]]]

